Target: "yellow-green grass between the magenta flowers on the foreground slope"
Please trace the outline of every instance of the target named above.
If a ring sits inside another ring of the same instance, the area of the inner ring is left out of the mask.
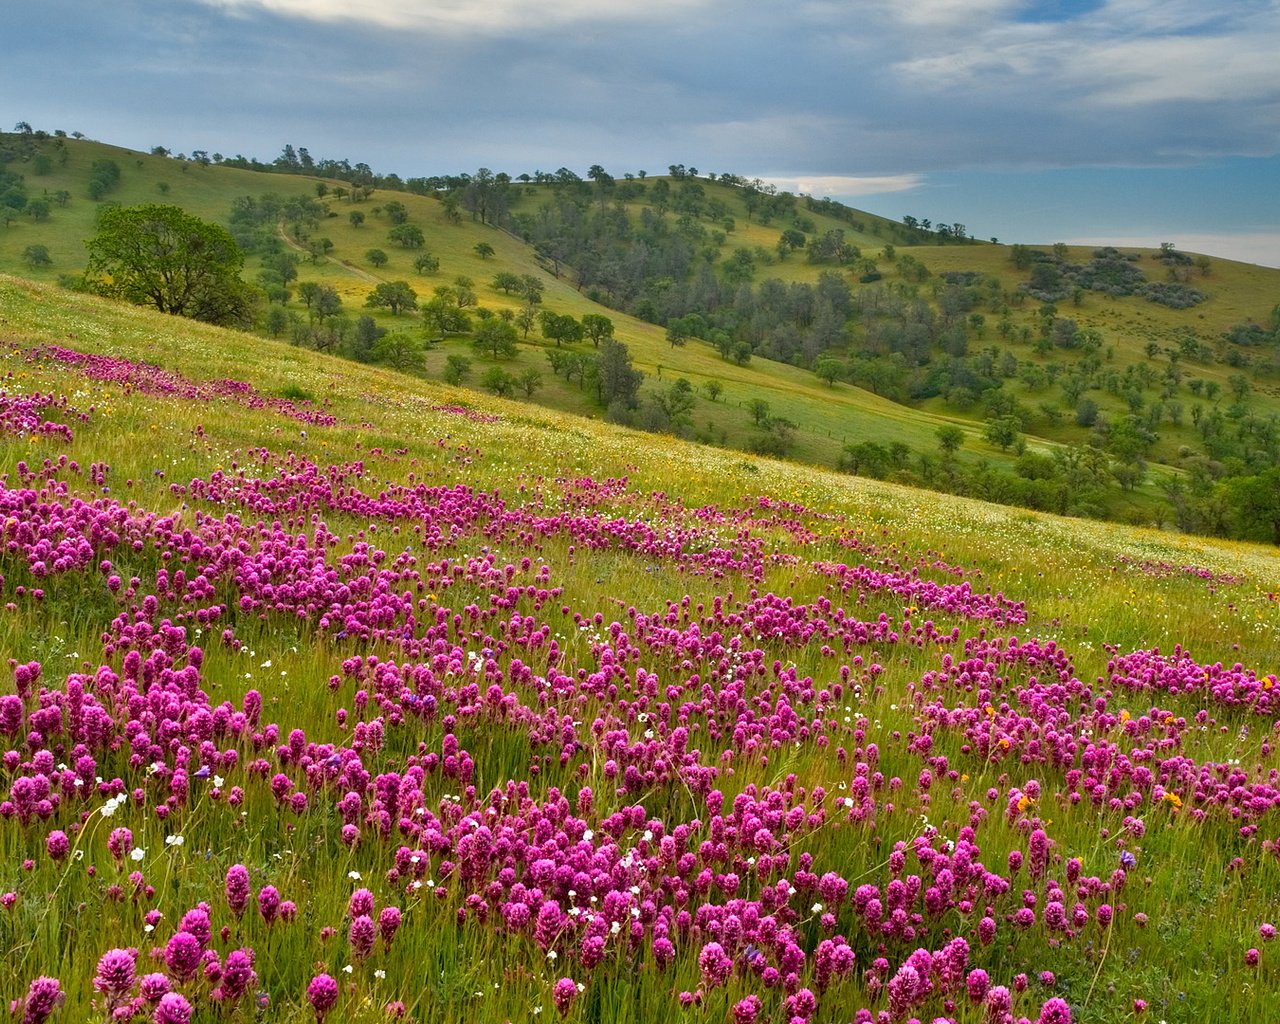
[[[19,460],[38,466],[44,457],[58,454],[74,458],[82,467],[106,462],[111,467],[111,493],[127,495],[142,509],[189,517],[191,512],[182,508],[182,498],[169,490],[170,484],[197,476],[207,479],[216,468],[269,476],[289,452],[319,466],[364,460],[367,476],[362,488],[372,493],[388,483],[404,484],[412,475],[415,481],[428,485],[466,484],[499,490],[512,504],[545,495],[550,509],[572,504],[563,483],[582,476],[596,480],[625,476],[626,485],[602,499],[602,508],[628,520],[689,524],[694,521],[690,509],[712,503],[736,509],[758,504],[765,495],[773,502],[803,506],[804,511],[780,515],[801,521],[812,531],[810,538],[796,539],[786,524],[751,527],[754,535],[768,536],[781,554],[794,557],[771,563],[758,590],[796,603],[824,596],[840,602],[831,581],[813,572],[810,562],[901,563],[940,579],[942,573],[934,563],[945,562],[963,567],[977,590],[991,588],[1025,600],[1029,621],[1015,632],[1060,643],[1070,650],[1074,671],[1084,681],[1106,672],[1108,644],[1121,650],[1156,645],[1170,650],[1181,643],[1201,662],[1240,660],[1260,671],[1274,671],[1280,662],[1280,603],[1275,600],[1280,557],[1274,549],[1059,520],[673,439],[659,442],[599,421],[448,389],[10,276],[0,276],[0,375],[6,375],[6,392],[52,389],[68,394],[79,408],[95,410],[88,422],[76,425],[76,439],[69,445],[0,435],[0,467],[13,472]],[[146,360],[195,380],[229,376],[248,381],[269,396],[314,397],[329,403],[339,422],[303,431],[293,420],[234,403],[125,394],[119,387],[91,381],[73,370],[31,361],[31,349],[45,344]],[[654,348],[660,349],[658,339]],[[744,374],[739,384],[744,394],[748,385],[749,376]],[[804,393],[799,381],[795,387],[796,394]],[[823,385],[817,385],[814,390],[820,394],[822,389]],[[495,415],[497,422],[476,424],[436,408],[458,401]],[[157,470],[164,471],[163,479]],[[92,497],[84,480],[78,480],[73,490]],[[229,509],[206,511],[223,515]],[[246,517],[251,521],[250,513]],[[387,524],[337,516],[325,520],[343,538],[366,530],[371,544],[392,554],[403,545],[403,536],[392,532]],[[403,527],[407,530],[408,524]],[[298,516],[287,529],[306,532],[310,524]],[[719,532],[723,543],[733,543],[735,527],[724,526]],[[861,550],[842,547],[840,538],[856,538]],[[466,536],[449,550],[449,557],[461,561],[476,556],[489,543],[480,535]],[[337,558],[349,548],[344,543],[330,557]],[[576,628],[570,617],[561,616],[559,602],[544,609],[541,614],[561,635],[568,664],[594,664],[594,637],[613,620],[625,622],[628,605],[659,611],[667,602],[680,603],[686,595],[696,605],[726,590],[745,598],[751,589],[741,579],[681,573],[623,552],[580,548],[571,556],[570,541],[563,536],[543,539],[536,549],[509,538],[498,545],[499,564],[520,554],[543,558],[554,567],[556,582],[564,588],[564,603],[573,611],[603,616],[599,628]],[[17,586],[33,584],[15,561],[4,564],[5,600],[13,599]],[[137,575],[143,580],[154,580],[161,566],[159,552],[146,548],[124,550],[115,561],[123,576]],[[1236,581],[1210,588],[1203,580],[1183,573],[1160,576],[1134,567],[1143,562],[1193,564],[1230,573]],[[40,659],[50,678],[96,667],[104,621],[119,611],[115,599],[88,577],[68,575],[51,579],[45,586],[47,595],[41,605],[23,603],[18,611],[0,614],[0,655]],[[485,588],[466,582],[454,588],[440,591],[442,604],[458,609],[488,599]],[[902,611],[900,600],[883,594],[872,595],[865,605],[850,602],[849,607],[851,613],[869,620],[881,612],[897,617]],[[940,626],[952,625],[946,616],[937,618]],[[225,625],[234,627],[243,644],[236,652],[218,639],[223,625],[193,636],[207,652],[202,675],[214,699],[238,703],[248,687],[257,687],[265,698],[264,721],[280,722],[285,733],[288,728],[303,728],[308,737],[321,741],[351,741],[349,731],[338,728],[335,716],[339,709],[352,707],[358,684],[347,678],[338,689],[328,685],[329,676],[340,671],[342,660],[369,653],[384,660],[397,657],[394,649],[361,650],[332,635],[320,636],[311,623],[284,617],[260,621],[253,614],[233,612]],[[960,620],[955,625],[966,635],[978,628]],[[475,649],[477,644],[468,646]],[[844,655],[824,655],[812,644],[786,646],[764,641],[763,646],[767,664],[773,658],[794,660],[800,676],[812,676],[819,685],[833,680],[845,662]],[[1047,827],[1059,844],[1057,851],[1064,858],[1080,856],[1085,874],[1106,876],[1116,860],[1115,836],[1123,815],[1088,801],[1073,805],[1061,795],[1062,773],[1057,768],[966,760],[957,739],[940,731],[934,753],[946,754],[965,776],[956,782],[955,794],[950,785],[940,782],[929,803],[922,801],[913,781],[923,762],[909,754],[904,742],[895,741],[892,732],[920,727],[911,705],[911,686],[924,672],[938,668],[942,653],[932,645],[864,652],[868,663],[883,663],[878,680],[883,689],[867,687],[860,696],[846,698],[832,716],[833,744],[852,748],[852,726],[842,719],[864,717],[872,730],[868,739],[881,746],[879,771],[887,777],[901,777],[906,785],[900,795],[888,797],[896,809],[886,812],[874,828],[824,827],[806,836],[792,855],[808,852],[819,865],[838,865],[846,877],[883,883],[888,851],[895,842],[922,835],[922,815],[943,835],[954,836],[968,820],[969,801],[978,800],[991,812],[982,827],[982,856],[993,869],[1002,869],[1009,851],[1023,849],[1025,836],[1002,819],[998,803],[987,804],[984,794],[988,787],[1004,791],[1037,777],[1044,790],[1038,813],[1052,822]],[[535,671],[545,671],[539,655],[530,658]],[[659,673],[664,682],[691,671],[669,653],[645,654],[641,664]],[[692,668],[709,671],[703,663]],[[1033,669],[1016,671],[1025,676]],[[522,699],[536,699],[530,687],[516,689]],[[1135,714],[1139,699],[1134,696],[1129,703]],[[1169,703],[1162,695],[1149,699],[1162,705]],[[1176,709],[1193,713],[1197,701],[1187,698],[1184,704],[1185,708]],[[590,721],[605,712],[616,709],[584,701],[572,714]],[[1276,754],[1262,749],[1268,723],[1258,721],[1254,735],[1240,739],[1238,730],[1244,716],[1220,713],[1219,719],[1230,726],[1229,732],[1190,736],[1185,753],[1197,759],[1240,758],[1251,776],[1266,777],[1276,767]],[[442,732],[439,723],[412,731],[389,730],[387,764],[401,764],[419,741],[439,749]],[[476,785],[481,794],[509,777],[529,777],[532,751],[526,735],[479,722],[460,726],[456,735],[476,759]],[[119,759],[122,772],[127,753],[111,755]],[[243,759],[257,756],[247,745],[241,753]],[[767,763],[759,756],[739,754],[727,763],[732,774],[726,772],[718,785],[732,800],[749,785],[780,785],[794,772],[801,785],[809,788],[822,785],[838,795],[849,782],[849,773],[831,754],[812,742],[769,750]],[[367,756],[372,764],[372,755]],[[116,762],[104,759],[108,772],[115,765]],[[602,817],[630,803],[600,785],[604,776],[599,760],[588,778],[600,794]],[[534,790],[544,795],[548,787],[558,786],[572,803],[579,785],[581,778],[572,765],[559,768],[553,763],[536,777]],[[431,780],[428,788],[433,806],[460,796],[460,787],[447,780]],[[388,847],[367,841],[346,849],[338,838],[340,820],[326,800],[316,800],[305,813],[293,814],[278,810],[261,782],[246,783],[246,790],[243,818],[207,796],[197,797],[172,824],[159,822],[133,804],[110,820],[95,814],[78,841],[84,861],[72,859],[64,865],[55,865],[45,856],[44,828],[18,829],[8,822],[0,823],[0,891],[18,895],[14,910],[0,911],[0,959],[8,966],[0,979],[0,996],[20,996],[27,980],[37,973],[56,974],[68,989],[61,1020],[99,1019],[100,1010],[90,1009],[90,978],[96,957],[116,945],[137,946],[146,952],[151,942],[166,938],[177,918],[200,900],[215,908],[215,927],[225,923],[230,928],[225,948],[244,943],[257,951],[259,987],[270,993],[273,1002],[269,1018],[282,1021],[301,1024],[312,1019],[302,992],[320,969],[349,983],[339,1011],[332,1018],[346,1021],[384,1019],[383,1004],[392,998],[408,1004],[417,1021],[497,1024],[532,1019],[532,1007],[541,1007],[540,1019],[552,1019],[550,987],[563,974],[588,984],[571,1010],[572,1021],[721,1020],[727,1019],[733,1001],[758,988],[751,979],[735,975],[724,989],[708,993],[701,1010],[681,1011],[676,993],[699,986],[695,940],[680,943],[682,955],[666,974],[654,970],[645,950],[632,959],[620,955],[590,974],[571,964],[548,965],[529,941],[506,938],[474,920],[460,924],[457,902],[429,895],[433,891],[429,886],[416,895],[398,896],[384,877]],[[704,809],[678,787],[646,794],[643,803],[650,815],[684,820],[704,817]],[[1162,806],[1146,808],[1144,813],[1148,831],[1140,844],[1139,867],[1130,873],[1123,893],[1126,911],[1117,915],[1108,933],[1094,929],[1076,942],[1053,948],[1041,929],[1019,936],[1001,923],[1001,942],[980,954],[980,963],[992,980],[1001,984],[1011,983],[1012,975],[1021,970],[1034,974],[1052,968],[1059,978],[1055,991],[1069,998],[1074,1019],[1080,1021],[1125,1020],[1134,997],[1148,1001],[1148,1018],[1153,1020],[1215,1019],[1244,1024],[1262,1019],[1277,997],[1280,978],[1268,948],[1263,948],[1263,966],[1258,972],[1243,968],[1242,955],[1248,946],[1260,943],[1257,927],[1270,919],[1267,908],[1280,899],[1280,867],[1272,855],[1263,852],[1261,836],[1242,837],[1236,824],[1225,817],[1196,826],[1188,817],[1175,817]],[[137,902],[109,900],[101,881],[88,878],[82,867],[92,863],[102,877],[116,877],[105,838],[118,823],[133,828],[134,844],[146,850],[136,867],[155,886],[154,895]],[[183,845],[168,846],[165,837],[179,828]],[[1262,829],[1265,835],[1267,828]],[[23,872],[20,865],[28,856],[36,867]],[[1239,872],[1231,868],[1234,856],[1243,858]],[[282,896],[294,900],[298,922],[268,928],[252,911],[241,920],[229,918],[221,878],[234,863],[250,867],[255,887],[269,882]],[[349,872],[358,873],[360,879],[348,879]],[[356,884],[372,888],[380,905],[388,900],[399,902],[406,923],[389,952],[353,964],[347,975],[342,969],[352,957],[344,911]],[[54,899],[47,893],[55,893]],[[143,914],[152,908],[165,915],[154,934],[143,924]],[[1147,927],[1137,923],[1138,913],[1148,915]],[[817,941],[817,923],[800,916],[800,933],[809,942]],[[961,923],[957,918],[945,923],[945,927],[970,925],[972,922]],[[337,932],[324,938],[325,927]],[[943,923],[931,924],[919,936],[919,945],[937,948],[946,938],[942,927]],[[859,950],[855,975],[860,977],[874,955],[869,946]],[[385,977],[376,977],[375,972],[384,972]],[[840,1000],[824,1002],[817,1020],[844,1021],[852,1009],[869,1002],[860,980],[845,984],[847,989]],[[1029,995],[1019,1002],[1019,1012],[1034,1016],[1047,995],[1033,980]],[[251,1016],[239,1012],[243,1019]],[[956,1018],[977,1021],[980,1015],[960,1006]],[[220,1018],[206,1009],[198,1019]]]

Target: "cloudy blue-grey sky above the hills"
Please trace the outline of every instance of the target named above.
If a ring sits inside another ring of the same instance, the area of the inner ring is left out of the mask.
[[[1280,0],[5,0],[0,119],[402,178],[763,178],[1280,266]]]

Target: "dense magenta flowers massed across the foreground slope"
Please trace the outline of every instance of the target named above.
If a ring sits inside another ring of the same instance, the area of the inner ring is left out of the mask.
[[[154,394],[266,401],[234,381],[42,356]],[[353,970],[398,948],[422,902],[438,901],[460,928],[570,969],[550,986],[562,1015],[594,972],[625,961],[675,977],[684,959],[700,984],[682,1001],[732,993],[723,1012],[737,1024],[809,1021],[823,1006],[852,1014],[859,1000],[858,1020],[945,1020],[968,1006],[1011,1021],[1039,998],[1041,1024],[1068,1024],[1055,975],[1039,973],[1033,991],[1007,977],[1001,950],[1023,934],[1050,948],[1103,942],[1130,914],[1129,847],[1148,819],[1212,815],[1248,838],[1280,806],[1280,780],[1188,742],[1217,714],[1275,717],[1275,676],[1138,650],[1111,652],[1108,677],[1085,682],[1057,644],[988,632],[1025,626],[1028,609],[979,589],[974,573],[936,557],[872,558],[777,499],[687,509],[623,479],[580,477],[538,480],[516,504],[470,486],[388,483],[383,458],[321,467],[256,452],[174,483],[163,511],[100,486],[81,493],[67,461],[23,465],[0,483],[9,607],[29,612],[79,588],[86,607],[110,609],[100,652],[56,671],[14,659],[0,696],[0,823],[70,870],[73,850],[92,849],[83,824],[104,803],[114,812],[127,800],[172,829],[198,817],[197,803],[236,819],[266,808],[291,829],[328,817],[335,851],[379,869],[344,920],[321,922],[321,942],[349,954]],[[106,472],[95,463],[90,483]],[[820,557],[780,550],[780,535]],[[567,564],[545,561],[550,550],[567,550]],[[832,550],[874,564],[837,563]],[[562,580],[580,556],[605,554],[717,593],[620,600],[609,616],[575,608]],[[822,596],[764,585],[801,566]],[[906,604],[859,614],[877,599]],[[302,695],[333,710],[312,735],[288,721],[288,703],[285,721],[268,721],[261,690],[233,690],[206,660],[210,644],[225,662],[250,628],[284,626],[332,652],[328,690]],[[881,728],[884,664],[909,658],[932,666],[896,695],[911,727]],[[1203,708],[1130,714],[1130,696]],[[494,777],[488,741],[475,739],[490,733],[527,751],[524,777]],[[910,772],[886,767],[890,746]],[[840,788],[788,771],[796,750],[829,758]],[[1000,785],[965,805],[956,794],[975,767]],[[1039,809],[1051,786],[1114,827],[1124,840],[1114,863],[1070,855]],[[928,824],[946,792],[959,820]],[[923,822],[884,842],[870,874],[827,851],[832,836],[878,844],[902,815]],[[104,829],[101,881],[116,887],[111,899],[145,902],[155,891],[141,872],[125,887],[136,831]],[[234,1007],[256,989],[255,954],[230,948],[232,928],[275,937],[298,908],[251,872],[247,852],[232,858],[243,863],[225,870],[220,900],[215,881],[215,906],[177,924],[151,910],[151,951],[99,955],[92,988],[113,1019],[183,1024],[202,1001]],[[342,996],[321,966],[308,968],[305,992],[285,993],[317,1021]],[[23,1012],[40,1021],[61,989],[31,984]]]

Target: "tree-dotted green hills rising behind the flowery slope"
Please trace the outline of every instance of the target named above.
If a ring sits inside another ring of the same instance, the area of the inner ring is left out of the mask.
[[[292,147],[275,165],[27,147],[5,166],[50,198],[0,233],[12,273],[74,279],[100,201],[177,204],[248,251],[271,337],[991,500],[1262,540],[1280,522],[1276,270],[1172,243],[998,244],[678,165],[399,180]],[[366,306],[396,282],[419,311]],[[472,346],[484,317],[516,325],[513,355]],[[639,387],[602,383],[584,317]]]

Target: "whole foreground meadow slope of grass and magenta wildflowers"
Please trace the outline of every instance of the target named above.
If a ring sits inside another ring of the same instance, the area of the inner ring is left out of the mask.
[[[0,276],[24,1024],[1251,1021],[1280,558]]]

